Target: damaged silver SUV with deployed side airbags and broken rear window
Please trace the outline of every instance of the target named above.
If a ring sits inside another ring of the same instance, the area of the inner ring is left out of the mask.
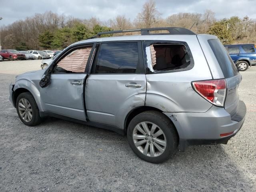
[[[141,35],[100,38],[122,32]],[[48,68],[16,76],[10,101],[28,126],[54,116],[109,129],[127,135],[138,157],[160,163],[190,145],[227,144],[245,119],[241,80],[216,36],[120,30],[76,42]]]

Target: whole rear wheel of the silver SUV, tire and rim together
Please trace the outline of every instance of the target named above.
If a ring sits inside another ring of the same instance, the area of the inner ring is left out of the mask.
[[[146,111],[135,116],[128,126],[127,138],[133,152],[151,163],[168,160],[178,146],[172,122],[158,111]]]

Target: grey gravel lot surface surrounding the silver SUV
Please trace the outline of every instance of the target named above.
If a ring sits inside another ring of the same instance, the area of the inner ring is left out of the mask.
[[[22,124],[8,100],[16,74],[40,60],[0,62],[0,191],[256,191],[256,66],[241,72],[243,128],[227,145],[191,146],[163,164],[125,136],[57,118]]]

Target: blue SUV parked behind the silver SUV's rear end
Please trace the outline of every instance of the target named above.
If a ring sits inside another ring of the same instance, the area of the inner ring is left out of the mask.
[[[256,45],[233,44],[224,46],[240,71],[247,70],[249,65],[256,65]]]

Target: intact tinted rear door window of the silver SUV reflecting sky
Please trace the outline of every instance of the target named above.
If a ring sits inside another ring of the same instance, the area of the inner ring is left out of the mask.
[[[102,43],[95,73],[136,73],[139,64],[138,43]]]

